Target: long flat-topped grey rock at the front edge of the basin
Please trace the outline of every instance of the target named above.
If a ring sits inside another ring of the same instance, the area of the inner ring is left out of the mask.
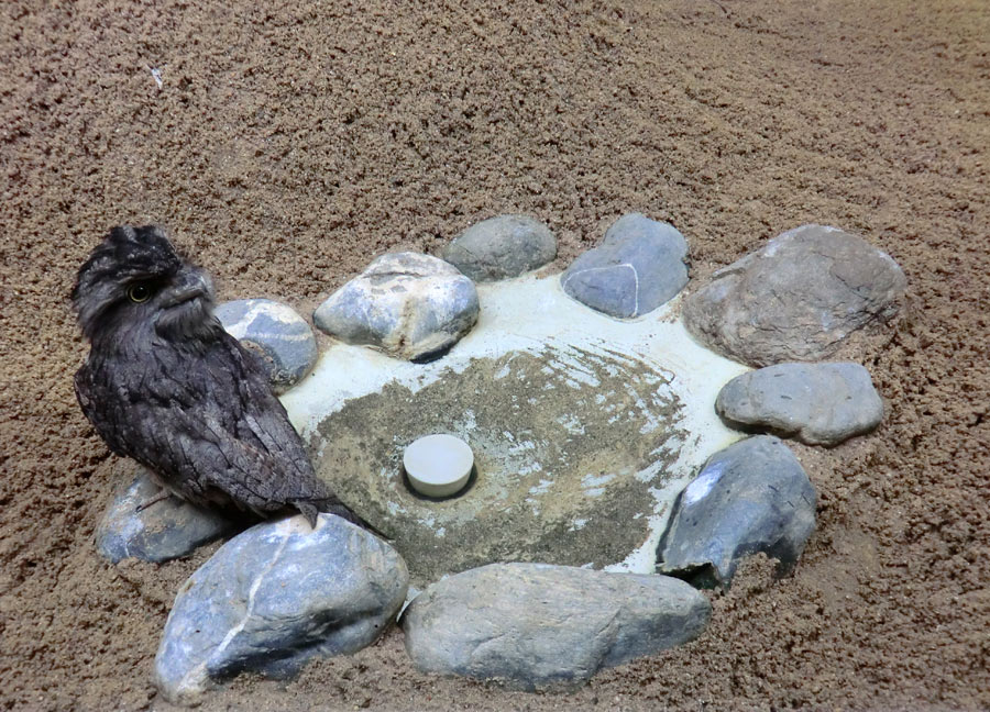
[[[710,615],[664,576],[491,564],[429,586],[402,625],[422,671],[542,690],[695,638]]]

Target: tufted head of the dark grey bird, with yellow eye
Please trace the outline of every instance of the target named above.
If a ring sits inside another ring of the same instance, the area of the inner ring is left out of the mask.
[[[79,268],[72,298],[90,342],[139,325],[170,341],[201,340],[221,329],[209,276],[155,225],[111,230]]]

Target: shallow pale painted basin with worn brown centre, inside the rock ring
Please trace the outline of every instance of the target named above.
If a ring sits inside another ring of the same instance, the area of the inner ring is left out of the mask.
[[[414,586],[504,560],[651,571],[675,496],[739,437],[712,403],[746,368],[695,344],[676,301],[618,321],[534,276],[479,298],[477,324],[442,358],[340,343],[286,394],[318,472],[395,542]],[[403,471],[405,448],[433,433],[475,457],[447,499]]]

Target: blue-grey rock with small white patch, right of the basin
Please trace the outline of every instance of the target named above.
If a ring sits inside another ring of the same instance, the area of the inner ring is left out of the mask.
[[[658,569],[728,589],[739,559],[763,552],[793,568],[815,529],[815,489],[779,438],[758,435],[712,456],[674,505]]]

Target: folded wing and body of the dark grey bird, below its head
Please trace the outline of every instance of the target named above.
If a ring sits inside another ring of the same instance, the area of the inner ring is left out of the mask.
[[[264,515],[286,504],[332,501],[251,359],[227,337],[193,364],[160,349],[140,367],[113,369],[112,378],[84,367],[76,388],[111,449],[193,502],[233,502]]]

